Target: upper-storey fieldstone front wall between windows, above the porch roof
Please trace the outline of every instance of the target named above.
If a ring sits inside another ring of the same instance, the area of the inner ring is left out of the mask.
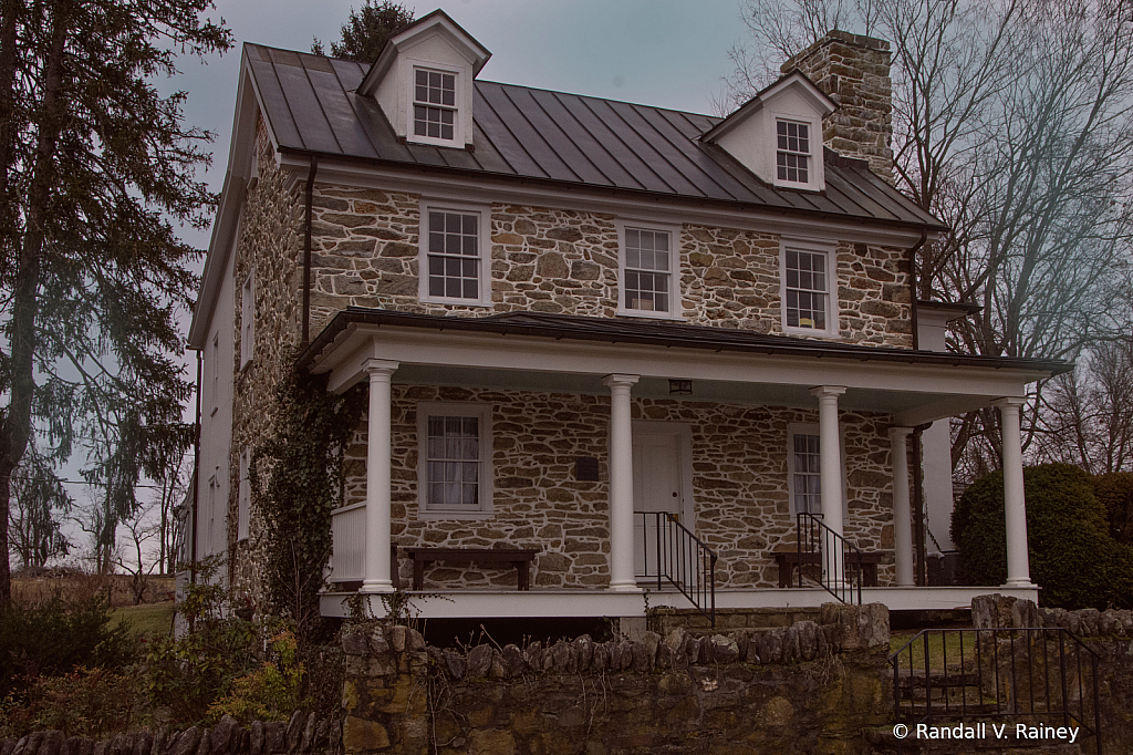
[[[418,299],[419,197],[317,186],[312,332],[346,306],[483,316],[535,311],[613,317],[617,311],[614,215],[492,205],[492,306]],[[681,313],[687,322],[783,333],[777,236],[685,224]],[[912,347],[902,249],[837,248],[840,340]]]

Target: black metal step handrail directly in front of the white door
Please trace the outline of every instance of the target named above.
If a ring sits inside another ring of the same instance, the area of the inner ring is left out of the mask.
[[[717,555],[668,511],[634,511],[641,518],[641,553],[645,574],[657,579],[657,589],[668,580],[716,626]],[[647,526],[653,521],[655,532]],[[655,567],[650,569],[650,566]]]

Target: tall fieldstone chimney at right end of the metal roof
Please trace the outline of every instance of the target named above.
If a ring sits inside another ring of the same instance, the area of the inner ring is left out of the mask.
[[[889,43],[834,29],[780,70],[802,71],[838,109],[823,120],[823,141],[838,154],[868,160],[893,183],[893,82]]]

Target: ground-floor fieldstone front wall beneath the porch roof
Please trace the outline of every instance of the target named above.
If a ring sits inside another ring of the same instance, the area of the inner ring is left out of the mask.
[[[494,501],[489,518],[421,518],[418,508],[418,401],[491,404]],[[787,494],[787,427],[817,423],[815,412],[634,399],[637,421],[683,423],[692,438],[695,532],[719,554],[717,586],[776,587],[773,551],[794,548]],[[610,399],[604,396],[394,385],[392,535],[398,545],[536,548],[533,584],[608,584]],[[850,516],[847,537],[871,551],[893,549],[892,463],[885,416],[843,415]],[[365,424],[347,451],[346,503],[366,494]],[[574,478],[574,460],[596,457],[598,482]],[[402,560],[401,578],[411,578]],[[878,569],[893,578],[892,557]],[[516,584],[516,570],[436,565],[426,589]]]

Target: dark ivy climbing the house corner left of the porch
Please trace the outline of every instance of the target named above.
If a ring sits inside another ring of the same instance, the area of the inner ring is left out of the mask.
[[[269,609],[293,619],[300,635],[318,625],[343,452],[365,409],[365,387],[333,395],[325,379],[289,370],[275,391],[273,434],[252,457],[253,497],[265,521]]]

